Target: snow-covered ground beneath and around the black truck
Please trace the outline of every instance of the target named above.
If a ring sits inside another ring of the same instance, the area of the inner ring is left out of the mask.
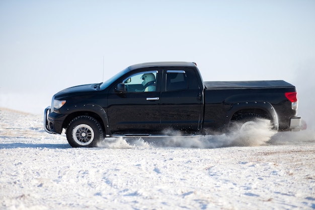
[[[0,209],[315,209],[313,131],[73,149],[42,117],[0,109]]]

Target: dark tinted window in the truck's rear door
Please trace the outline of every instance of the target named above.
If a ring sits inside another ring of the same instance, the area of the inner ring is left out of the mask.
[[[166,91],[186,90],[187,77],[185,71],[168,70],[166,74]]]

